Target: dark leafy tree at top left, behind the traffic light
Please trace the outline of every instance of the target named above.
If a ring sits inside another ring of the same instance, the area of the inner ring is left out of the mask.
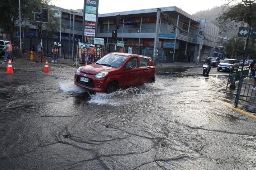
[[[28,18],[22,21],[22,29],[29,29],[28,25],[25,25],[25,21],[29,21],[30,24],[37,25],[34,21],[34,13],[40,12],[41,8],[47,8],[49,13],[49,23],[44,23],[46,26],[46,32],[48,34],[55,34],[59,31],[59,18],[54,15],[58,11],[54,10],[54,6],[48,5],[51,0],[22,0],[20,1],[21,18]],[[13,36],[16,30],[19,28],[19,3],[18,0],[6,0],[0,3],[0,28],[5,34],[13,40]],[[64,26],[64,24],[63,24]],[[63,28],[63,27],[62,27]]]

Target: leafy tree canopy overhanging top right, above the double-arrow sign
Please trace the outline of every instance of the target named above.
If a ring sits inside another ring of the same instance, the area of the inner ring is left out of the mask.
[[[227,1],[228,3],[223,6],[223,10],[229,4],[233,3],[233,6],[229,6],[229,9],[224,11],[217,20],[222,23],[256,26],[256,0]]]

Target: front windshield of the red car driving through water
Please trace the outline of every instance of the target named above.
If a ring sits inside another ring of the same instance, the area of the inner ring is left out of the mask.
[[[106,65],[109,67],[120,67],[127,58],[128,56],[125,55],[107,54],[95,64]]]

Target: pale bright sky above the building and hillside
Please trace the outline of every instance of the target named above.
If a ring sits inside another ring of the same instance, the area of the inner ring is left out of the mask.
[[[167,6],[177,6],[189,14],[195,14],[226,2],[227,0],[99,0],[99,14]],[[83,9],[83,0],[52,0],[52,4],[65,9]]]

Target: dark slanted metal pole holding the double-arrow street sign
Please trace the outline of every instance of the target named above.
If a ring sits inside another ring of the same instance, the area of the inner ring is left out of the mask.
[[[251,31],[252,31],[252,27],[250,26],[248,35],[247,35],[247,39],[246,39],[245,49],[244,49],[243,64],[242,64],[242,68],[241,68],[241,72],[240,72],[240,79],[239,79],[239,83],[238,83],[235,107],[237,107],[237,105],[238,105],[238,101],[239,101],[239,97],[240,97],[240,93],[241,93],[241,88],[242,88],[242,83],[243,83],[243,67],[244,67],[244,62],[245,62],[246,56],[247,56],[247,48],[248,48],[249,39],[251,36]]]

